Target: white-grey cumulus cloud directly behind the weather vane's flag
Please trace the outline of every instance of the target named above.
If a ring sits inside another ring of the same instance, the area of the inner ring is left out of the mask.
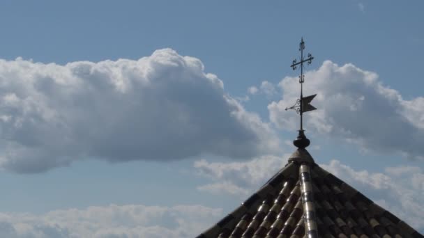
[[[318,108],[304,118],[308,131],[345,138],[364,150],[423,159],[424,97],[404,100],[397,90],[384,86],[376,73],[331,61],[307,72],[305,81],[305,95],[317,93],[312,105]],[[282,100],[268,105],[271,121],[294,130],[298,118],[285,108],[298,98],[298,79],[285,77],[279,86]]]

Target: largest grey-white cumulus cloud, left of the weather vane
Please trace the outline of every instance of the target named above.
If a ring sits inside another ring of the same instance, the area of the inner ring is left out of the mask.
[[[137,61],[0,60],[0,166],[20,173],[75,159],[234,158],[278,150],[255,113],[197,58],[160,49]]]

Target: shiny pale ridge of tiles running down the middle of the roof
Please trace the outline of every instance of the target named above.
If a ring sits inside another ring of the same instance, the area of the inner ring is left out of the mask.
[[[312,177],[310,176],[310,166],[308,163],[303,163],[300,166],[299,180],[301,181],[305,235],[310,238],[319,237],[317,230],[317,219],[315,217],[315,200],[314,192],[312,191]]]

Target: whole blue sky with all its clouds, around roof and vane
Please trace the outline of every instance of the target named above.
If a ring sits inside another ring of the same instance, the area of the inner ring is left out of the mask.
[[[424,232],[422,1],[1,1],[0,237],[195,237],[315,162]]]

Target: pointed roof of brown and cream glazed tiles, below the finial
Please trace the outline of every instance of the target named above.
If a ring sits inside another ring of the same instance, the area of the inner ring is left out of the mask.
[[[198,238],[424,237],[315,164],[305,149]]]

